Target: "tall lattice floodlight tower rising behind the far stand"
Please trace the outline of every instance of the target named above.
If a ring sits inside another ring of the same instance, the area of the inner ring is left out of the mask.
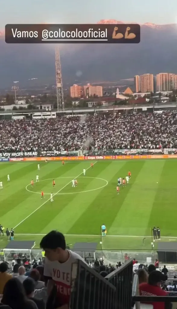
[[[59,47],[55,48],[55,70],[56,70],[56,84],[57,84],[57,110],[64,111],[64,95],[63,95],[63,82],[61,75],[60,51]]]

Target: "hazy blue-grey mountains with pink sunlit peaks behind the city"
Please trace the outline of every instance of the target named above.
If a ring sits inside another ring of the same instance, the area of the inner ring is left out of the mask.
[[[123,23],[101,20],[99,23]],[[177,25],[141,25],[139,44],[62,44],[61,66],[64,84],[118,81],[135,74],[177,73]],[[55,84],[53,44],[6,44],[0,32],[0,88],[38,83]]]

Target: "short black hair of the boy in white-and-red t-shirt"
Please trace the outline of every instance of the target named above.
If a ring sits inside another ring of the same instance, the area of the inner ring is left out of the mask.
[[[43,237],[40,242],[40,248],[52,249],[61,248],[66,249],[65,236],[58,231],[51,231]]]

